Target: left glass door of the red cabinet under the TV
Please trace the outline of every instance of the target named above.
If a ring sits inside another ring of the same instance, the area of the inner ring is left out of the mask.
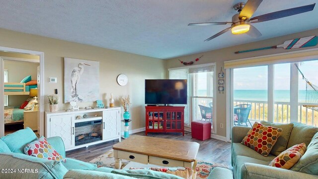
[[[163,131],[163,111],[148,112],[148,129],[153,131]]]

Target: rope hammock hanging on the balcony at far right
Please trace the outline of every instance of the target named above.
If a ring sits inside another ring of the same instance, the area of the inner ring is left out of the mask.
[[[295,64],[300,74],[303,76],[303,80],[306,81],[306,103],[311,103],[309,105],[303,105],[304,107],[318,111],[318,86],[312,84],[310,81],[305,78],[304,74]]]

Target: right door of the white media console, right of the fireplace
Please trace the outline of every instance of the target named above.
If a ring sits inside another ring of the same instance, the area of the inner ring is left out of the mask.
[[[120,136],[119,123],[118,109],[103,111],[103,140]]]

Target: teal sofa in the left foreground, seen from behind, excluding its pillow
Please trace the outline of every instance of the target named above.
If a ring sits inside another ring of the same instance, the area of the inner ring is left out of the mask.
[[[66,158],[64,143],[60,137],[50,137],[47,140],[67,159],[65,163],[25,155],[23,152],[25,145],[36,139],[36,135],[28,127],[1,137],[0,179],[182,179],[150,170],[97,168],[95,164]],[[208,179],[219,177],[226,179],[229,176],[232,178],[230,170],[216,168]]]

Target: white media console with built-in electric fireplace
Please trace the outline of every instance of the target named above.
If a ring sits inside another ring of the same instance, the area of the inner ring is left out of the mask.
[[[120,142],[120,114],[120,107],[46,111],[45,135],[61,137],[66,151],[114,139]]]

